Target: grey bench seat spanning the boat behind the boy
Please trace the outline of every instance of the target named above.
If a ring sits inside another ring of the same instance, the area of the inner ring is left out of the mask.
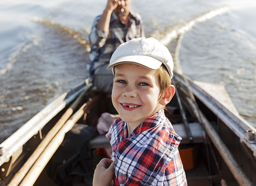
[[[199,123],[189,123],[193,143],[203,143],[202,127]],[[173,125],[174,131],[182,137],[181,144],[188,144],[189,137],[186,135],[185,127],[182,123]],[[108,138],[105,135],[98,135],[90,140],[89,145],[92,149],[111,147]]]

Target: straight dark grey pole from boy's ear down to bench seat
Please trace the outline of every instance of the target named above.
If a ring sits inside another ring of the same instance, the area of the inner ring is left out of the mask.
[[[184,109],[182,107],[179,91],[177,89],[177,86],[176,86],[176,83],[175,83],[174,79],[172,80],[172,83],[173,83],[173,85],[175,87],[175,90],[176,90],[175,93],[176,93],[176,97],[177,97],[177,100],[178,100],[178,103],[179,103],[179,106],[180,106],[180,113],[181,113],[181,116],[182,116],[183,124],[184,124],[185,129],[186,129],[185,131],[186,131],[187,135],[189,136],[189,143],[193,143],[193,137],[192,137],[192,134],[191,134],[191,130],[190,130],[190,127],[189,127],[188,120],[186,118]]]

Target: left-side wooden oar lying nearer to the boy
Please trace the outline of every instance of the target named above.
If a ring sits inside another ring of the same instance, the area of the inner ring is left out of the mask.
[[[83,116],[83,114],[89,111],[95,104],[95,101],[99,99],[99,96],[94,97],[87,104],[85,103],[72,117],[67,120],[61,130],[56,134],[52,141],[47,145],[42,154],[38,157],[34,165],[30,168],[27,175],[24,177],[19,186],[33,186],[37,178],[43,171],[46,164],[49,162],[53,154],[61,145],[65,134],[71,130],[75,123]]]

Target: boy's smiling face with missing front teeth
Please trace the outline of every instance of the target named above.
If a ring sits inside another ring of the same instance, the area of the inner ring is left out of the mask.
[[[115,66],[112,103],[123,121],[139,125],[155,114],[162,108],[160,93],[156,70],[131,63]]]

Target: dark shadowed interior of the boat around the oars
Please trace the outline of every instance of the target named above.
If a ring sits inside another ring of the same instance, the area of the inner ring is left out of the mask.
[[[178,94],[176,92],[166,106],[165,115],[171,121],[175,132],[182,137],[179,152],[188,185],[219,186],[223,185],[222,180],[225,180],[229,186],[238,186],[239,183],[207,136],[204,126],[199,121],[200,118],[196,116],[195,113],[198,111],[191,106],[188,90],[181,84],[177,84],[176,91]],[[243,171],[253,183],[256,183],[256,160],[253,152],[241,143],[237,135],[207,106],[197,98],[196,102]],[[84,103],[86,103],[85,106]],[[42,130],[39,130],[16,152],[16,155],[14,154],[0,167],[0,186],[8,185],[13,175],[27,161],[70,105],[71,103],[53,117]],[[35,186],[92,185],[96,165],[100,159],[109,158],[109,149],[111,149],[109,140],[104,134],[99,134],[97,124],[103,113],[117,115],[111,102],[111,95],[92,87],[80,100],[74,113],[81,108],[83,114],[77,118],[72,129],[65,134],[57,151],[49,157],[48,163],[34,183]],[[108,123],[109,126],[111,123]]]

